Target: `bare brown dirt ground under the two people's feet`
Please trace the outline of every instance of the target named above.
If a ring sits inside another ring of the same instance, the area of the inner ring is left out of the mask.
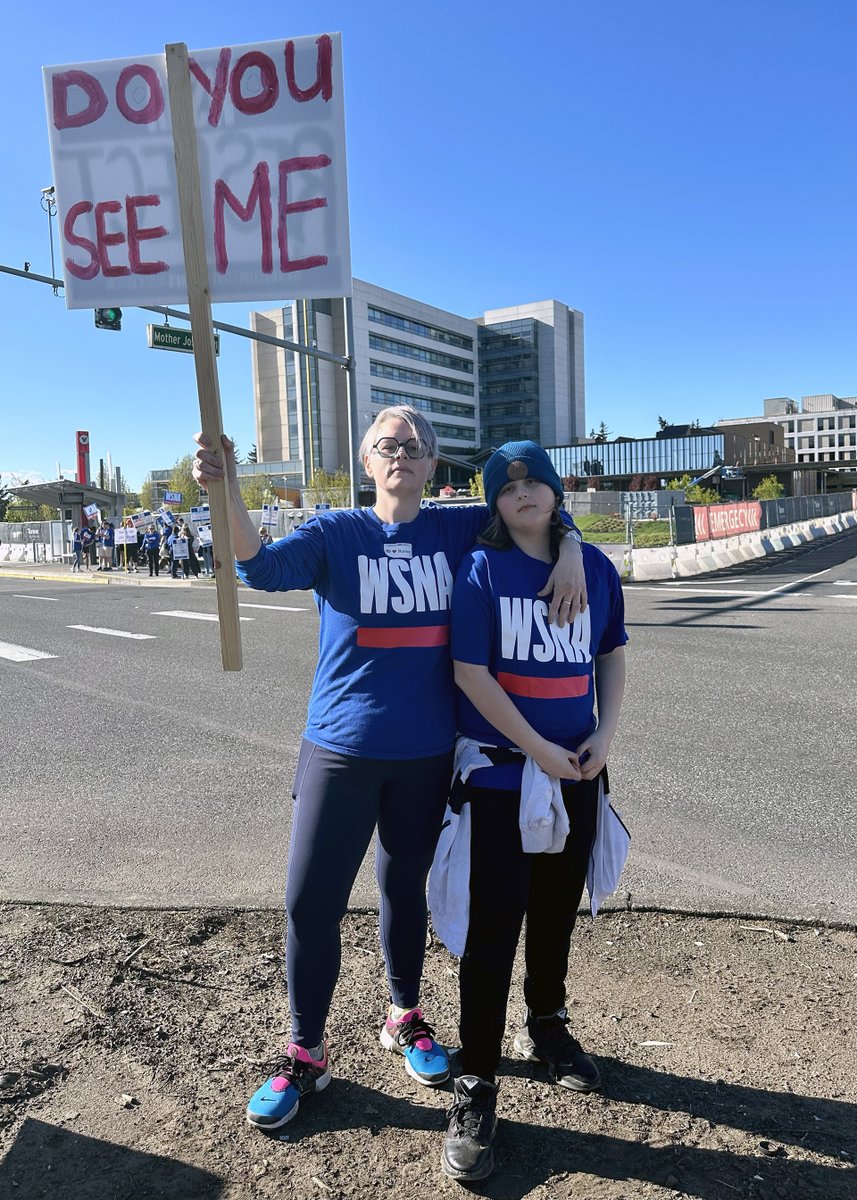
[[[335,1079],[281,1136],[242,1109],[282,1051],[282,918],[0,905],[0,1198],[244,1200],[463,1193],[448,1090],[382,1050],[372,913],[343,926]],[[857,934],[769,920],[581,918],[569,1008],[598,1094],[505,1058],[496,1200],[855,1200]],[[520,1013],[520,964],[509,1039]],[[456,1037],[456,961],[424,1004]]]

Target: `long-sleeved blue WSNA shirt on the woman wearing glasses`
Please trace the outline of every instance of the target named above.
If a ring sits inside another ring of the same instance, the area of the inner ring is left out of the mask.
[[[365,758],[453,748],[453,582],[486,521],[484,505],[426,505],[413,521],[389,526],[372,509],[324,512],[239,562],[253,588],[316,593],[311,742]]]

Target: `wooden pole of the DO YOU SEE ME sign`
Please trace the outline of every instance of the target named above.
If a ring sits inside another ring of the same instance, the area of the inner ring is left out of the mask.
[[[220,407],[220,384],[215,358],[214,326],[211,324],[211,292],[205,257],[205,233],[203,223],[202,190],[199,185],[199,161],[197,157],[197,131],[193,121],[191,73],[187,47],[174,42],[164,47],[167,58],[167,86],[173,124],[173,149],[179,187],[181,214],[181,241],[187,275],[187,302],[193,332],[193,361],[197,372],[199,414],[203,433],[206,434],[215,454],[222,454],[221,436],[223,418]],[[238,619],[238,586],[235,583],[229,524],[229,493],[226,480],[209,484],[211,508],[211,533],[214,556],[220,562],[215,572],[217,586],[217,614],[220,617],[221,660],[224,671],[241,670],[241,632]]]

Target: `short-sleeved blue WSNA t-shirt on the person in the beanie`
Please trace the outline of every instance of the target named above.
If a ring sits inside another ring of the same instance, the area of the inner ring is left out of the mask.
[[[557,745],[576,750],[595,728],[594,659],[628,641],[624,600],[616,568],[597,546],[583,544],[589,596],[573,625],[547,620],[549,600],[538,593],[552,565],[514,546],[480,546],[466,556],[453,592],[453,658],[486,666],[522,716]],[[487,745],[513,743],[456,688],[459,732]],[[520,786],[520,767],[484,768],[477,785]]]

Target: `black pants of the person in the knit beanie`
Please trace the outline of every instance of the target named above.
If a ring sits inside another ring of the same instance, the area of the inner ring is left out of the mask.
[[[523,996],[537,1016],[565,1002],[571,931],[595,836],[598,780],[563,785],[571,829],[559,854],[525,854],[521,796],[465,785],[471,805],[471,923],[461,960],[461,1067],[492,1080],[523,918]]]

